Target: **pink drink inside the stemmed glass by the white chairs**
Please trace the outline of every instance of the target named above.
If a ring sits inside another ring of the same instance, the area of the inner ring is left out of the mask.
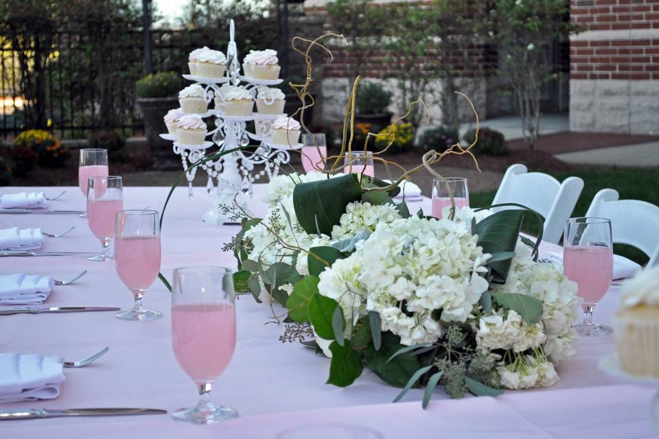
[[[583,305],[595,305],[603,298],[613,277],[613,250],[604,246],[566,246],[564,272],[579,285]]]

